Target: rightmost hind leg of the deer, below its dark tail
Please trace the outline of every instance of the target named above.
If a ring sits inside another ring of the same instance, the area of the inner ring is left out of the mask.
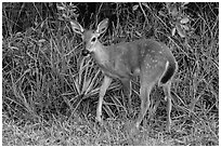
[[[171,124],[170,113],[172,109],[170,86],[171,86],[171,81],[162,85],[164,93],[165,93],[165,99],[167,100],[167,131],[168,132],[170,132],[170,124]]]

